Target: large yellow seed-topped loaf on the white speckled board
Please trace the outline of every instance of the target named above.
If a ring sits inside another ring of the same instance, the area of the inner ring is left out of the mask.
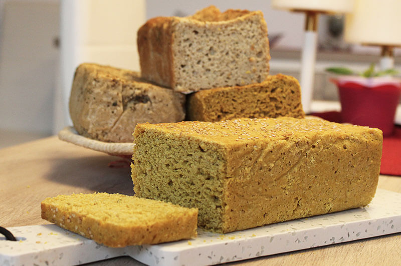
[[[364,206],[381,158],[378,129],[290,117],[138,124],[137,196],[199,209],[230,232]]]

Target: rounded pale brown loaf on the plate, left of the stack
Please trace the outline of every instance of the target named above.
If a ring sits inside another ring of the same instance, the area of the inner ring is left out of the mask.
[[[105,142],[132,142],[136,123],[184,119],[184,95],[139,76],[108,66],[80,65],[70,97],[70,116],[77,132]]]

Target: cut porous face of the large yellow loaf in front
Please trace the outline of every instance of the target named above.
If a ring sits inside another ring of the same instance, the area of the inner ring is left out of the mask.
[[[134,132],[135,195],[198,208],[202,214],[198,226],[221,227],[224,151],[200,139],[180,138],[147,125],[139,124]]]

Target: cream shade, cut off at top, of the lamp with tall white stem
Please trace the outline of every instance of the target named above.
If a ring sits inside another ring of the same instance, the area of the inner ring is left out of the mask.
[[[329,13],[348,13],[354,8],[353,0],[272,0],[271,5],[276,9]]]

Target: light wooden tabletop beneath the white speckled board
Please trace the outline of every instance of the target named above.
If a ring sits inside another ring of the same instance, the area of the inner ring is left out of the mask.
[[[99,191],[132,195],[130,168],[109,167],[110,162],[119,159],[57,137],[0,149],[0,225],[49,223],[41,218],[40,202],[58,194]],[[401,192],[401,177],[380,176],[378,187]],[[141,263],[130,257],[120,257],[97,264]],[[229,264],[400,265],[401,233]]]

